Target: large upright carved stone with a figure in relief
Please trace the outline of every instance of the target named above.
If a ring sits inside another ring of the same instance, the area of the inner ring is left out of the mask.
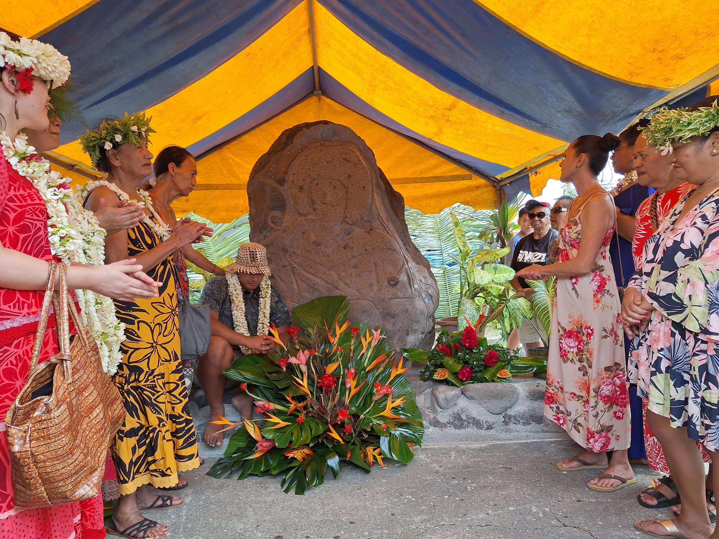
[[[412,243],[404,198],[349,127],[287,129],[247,183],[250,240],[267,247],[291,309],[347,295],[350,320],[387,329],[395,347],[430,347],[439,290]]]

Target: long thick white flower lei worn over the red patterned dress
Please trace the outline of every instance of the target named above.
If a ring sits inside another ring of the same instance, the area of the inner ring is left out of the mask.
[[[73,189],[60,172],[50,169],[35,148],[20,133],[13,143],[0,134],[3,155],[17,173],[30,180],[40,191],[47,208],[47,232],[50,251],[65,264],[99,266],[105,260],[106,232],[97,218],[78,202]],[[122,361],[120,344],[125,340],[123,323],[117,321],[110,298],[92,290],[75,290],[81,308],[81,319],[97,342],[106,374],[114,374]]]

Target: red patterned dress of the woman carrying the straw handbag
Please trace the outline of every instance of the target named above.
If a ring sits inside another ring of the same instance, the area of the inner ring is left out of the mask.
[[[0,242],[32,257],[50,260],[47,210],[40,193],[0,157]],[[101,496],[43,509],[14,507],[9,449],[3,422],[27,380],[32,341],[43,292],[0,287],[0,539],[101,539],[105,537]],[[58,351],[50,316],[40,361]]]

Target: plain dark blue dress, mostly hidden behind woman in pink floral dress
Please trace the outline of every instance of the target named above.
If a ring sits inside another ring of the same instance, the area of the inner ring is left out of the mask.
[[[635,183],[614,197],[614,204],[620,211],[632,217],[639,205],[654,193],[655,189],[644,187]],[[617,232],[612,236],[609,246],[609,255],[612,259],[614,275],[618,287],[626,287],[634,274],[634,259],[632,257],[631,242],[619,236]],[[624,335],[624,353],[629,359],[631,341]],[[646,459],[644,448],[644,421],[642,420],[641,398],[636,395],[636,385],[629,387],[629,405],[631,407],[631,446],[628,456],[630,459]]]

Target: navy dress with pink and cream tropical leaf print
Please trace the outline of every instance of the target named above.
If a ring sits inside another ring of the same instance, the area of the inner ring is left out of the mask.
[[[656,308],[632,353],[631,376],[648,410],[719,451],[719,192],[679,221],[692,192],[646,241],[644,266],[628,284]]]

